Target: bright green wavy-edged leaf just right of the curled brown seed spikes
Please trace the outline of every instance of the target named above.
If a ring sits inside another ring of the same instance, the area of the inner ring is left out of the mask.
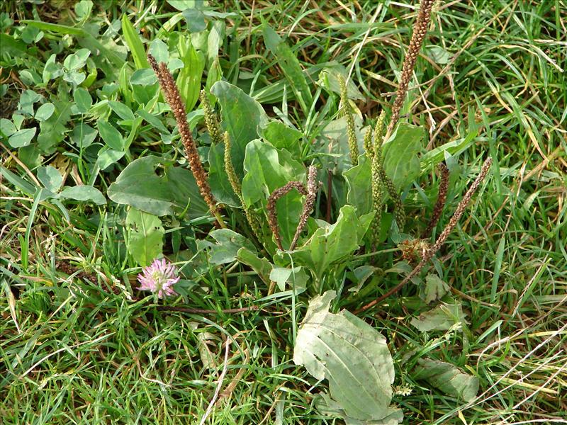
[[[300,248],[285,256],[291,256],[293,263],[310,269],[320,280],[328,268],[339,261],[345,261],[359,248],[374,214],[357,217],[356,208],[344,205],[334,225],[320,220],[322,227]]]

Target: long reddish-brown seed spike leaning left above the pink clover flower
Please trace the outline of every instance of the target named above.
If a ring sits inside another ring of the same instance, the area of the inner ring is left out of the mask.
[[[181,142],[183,143],[185,149],[185,156],[187,157],[187,161],[189,162],[189,166],[191,167],[191,171],[193,172],[193,176],[195,177],[197,186],[199,188],[199,191],[201,192],[201,196],[203,196],[203,199],[207,203],[210,212],[215,215],[219,224],[222,227],[225,227],[222,218],[218,214],[216,200],[213,197],[213,193],[211,193],[210,191],[207,172],[203,168],[203,164],[201,164],[201,159],[199,159],[197,147],[195,145],[195,141],[193,140],[193,135],[191,135],[189,124],[187,124],[185,103],[181,99],[179,89],[175,84],[173,76],[171,72],[169,72],[169,69],[167,69],[167,65],[163,62],[158,64],[155,60],[155,57],[153,57],[152,55],[148,54],[147,60],[148,62],[150,62],[152,69],[157,75],[157,81],[159,81],[159,86],[161,86],[162,88],[165,100],[172,108],[177,128],[179,130],[179,134],[181,135]]]

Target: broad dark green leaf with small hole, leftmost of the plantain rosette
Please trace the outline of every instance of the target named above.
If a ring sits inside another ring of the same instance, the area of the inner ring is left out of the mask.
[[[167,164],[164,175],[158,176],[161,162],[154,156],[135,159],[108,188],[108,198],[158,216],[180,213],[188,204],[190,218],[208,215],[191,171]]]

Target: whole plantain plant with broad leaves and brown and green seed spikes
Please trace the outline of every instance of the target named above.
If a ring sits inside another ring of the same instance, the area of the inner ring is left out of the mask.
[[[430,242],[427,238],[437,227],[449,190],[449,169],[442,162],[449,155],[449,147],[424,152],[424,130],[398,120],[433,4],[432,0],[420,4],[391,112],[382,111],[377,119],[367,117],[366,128],[362,128],[357,104],[350,98],[353,93],[357,95],[356,86],[353,89],[344,69],[330,66],[320,71],[320,86],[330,94],[327,105],[338,103],[338,118],[324,128],[313,130],[315,127],[305,125],[299,130],[290,120],[270,118],[257,100],[262,96],[253,98],[219,79],[208,89],[199,88],[201,108],[197,111],[206,128],[199,140],[208,135],[208,144],[198,146],[195,130],[189,124],[189,118],[197,115],[186,111],[196,101],[196,90],[183,87],[181,92],[176,84],[189,81],[190,76],[176,80],[171,63],[157,60],[152,54],[147,56],[174,116],[180,150],[192,174],[185,174],[193,188],[189,204],[170,202],[169,208],[159,211],[178,218],[208,216],[208,233],[214,242],[203,238],[199,244],[208,263],[218,267],[230,264],[231,268],[240,264],[257,274],[264,283],[266,297],[291,290],[294,300],[308,303],[303,324],[299,329],[293,327],[293,358],[315,378],[329,381],[329,392],[318,395],[317,405],[322,412],[340,416],[347,423],[394,424],[402,420],[403,414],[391,406],[394,368],[385,339],[347,310],[332,312],[332,305],[366,312],[410,280],[419,280],[490,167],[490,160],[483,164],[447,227]],[[286,78],[301,109],[310,111],[318,96],[311,93],[285,40],[266,26],[264,38],[267,49],[288,67]],[[190,55],[191,48],[185,43],[182,51]],[[167,52],[162,57],[167,58]],[[145,65],[139,55],[137,64]],[[302,147],[300,140],[308,137],[308,130],[313,130],[309,133],[313,143]],[[150,164],[148,158],[137,159],[124,169],[109,188],[108,196],[145,211],[145,220],[150,222],[147,213],[161,215],[155,207],[167,206],[167,198],[144,204],[120,196],[125,190],[123,182],[133,176],[129,168],[139,169],[142,161]],[[429,224],[422,224],[405,202],[412,193],[412,183],[437,165],[437,203]],[[150,170],[154,172],[151,166]],[[196,193],[201,199],[194,197]],[[357,293],[368,294],[375,289],[370,283],[376,283],[376,279],[368,278],[379,275],[376,264],[383,253],[392,251],[400,254],[400,264],[405,266],[399,269],[405,271],[405,276],[393,286],[386,279],[379,281],[382,295],[359,305]],[[347,295],[343,295],[345,286],[349,288]],[[437,295],[432,295],[431,288],[436,288]],[[443,283],[428,276],[425,298],[428,302],[438,300],[444,294],[443,288]],[[462,313],[455,308],[446,310]],[[446,314],[446,310],[435,314]],[[331,354],[328,361],[320,361]],[[470,390],[474,382],[468,378]],[[366,385],[361,387],[361,380]],[[378,390],[368,392],[367,387]]]

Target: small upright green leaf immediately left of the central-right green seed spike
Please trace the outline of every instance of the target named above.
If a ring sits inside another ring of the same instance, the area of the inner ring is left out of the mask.
[[[359,215],[373,210],[371,160],[366,155],[359,157],[359,164],[342,175],[347,181],[347,203],[357,208]]]

